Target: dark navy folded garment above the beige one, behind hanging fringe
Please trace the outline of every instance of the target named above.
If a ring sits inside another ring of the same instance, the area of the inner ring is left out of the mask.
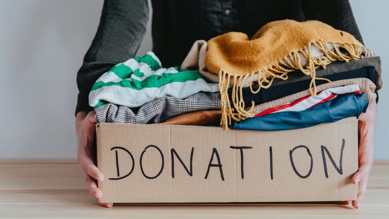
[[[322,78],[326,78],[331,81],[340,81],[340,80],[353,79],[353,78],[368,78],[370,79],[370,81],[374,82],[375,80],[374,70],[375,70],[374,66],[367,66],[356,70],[344,71],[333,75],[323,76]],[[290,72],[289,74],[299,74],[299,73],[302,74],[301,72]],[[243,100],[245,102],[245,105],[251,106],[251,101],[254,101],[255,105],[258,105],[261,103],[269,102],[271,100],[279,99],[309,89],[310,79],[298,81],[290,84],[283,84],[283,85],[277,85],[277,80],[282,80],[282,79],[275,79],[273,85],[271,85],[269,88],[261,89],[256,94],[253,94],[250,91],[249,87],[243,88],[242,92],[243,92]],[[324,83],[328,83],[328,82],[323,80],[316,80],[316,85],[321,85]],[[258,89],[258,84],[253,85],[253,90],[257,90],[257,89]],[[228,90],[228,95],[230,98],[232,97],[232,89]],[[230,101],[232,100],[230,99]]]

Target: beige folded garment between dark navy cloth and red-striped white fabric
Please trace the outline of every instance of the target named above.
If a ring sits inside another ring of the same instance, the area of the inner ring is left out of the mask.
[[[317,92],[320,92],[328,88],[339,87],[344,85],[352,85],[352,84],[359,85],[359,89],[361,89],[361,92],[365,93],[366,98],[369,100],[369,104],[370,102],[375,101],[377,97],[377,95],[374,93],[376,86],[372,81],[370,81],[367,78],[356,78],[356,79],[345,79],[340,81],[333,81],[331,83],[325,83],[319,85],[316,88],[317,88]],[[258,104],[254,106],[252,113],[257,114],[268,108],[272,108],[288,102],[292,102],[307,95],[310,95],[309,89],[273,101]]]

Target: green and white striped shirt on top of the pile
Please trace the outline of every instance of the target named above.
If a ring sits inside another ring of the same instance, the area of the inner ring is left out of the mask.
[[[89,105],[110,102],[138,107],[160,97],[183,99],[200,91],[218,92],[219,84],[208,82],[199,71],[180,71],[179,66],[163,68],[159,58],[147,52],[105,72],[89,93]]]

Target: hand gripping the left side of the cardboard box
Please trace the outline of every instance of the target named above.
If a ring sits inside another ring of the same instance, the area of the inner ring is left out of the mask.
[[[84,170],[85,180],[89,193],[96,198],[101,198],[103,193],[97,188],[96,180],[103,181],[104,175],[97,169],[92,156],[92,144],[95,134],[97,117],[94,111],[89,113],[79,112],[75,118],[75,130],[77,133],[77,161]],[[104,207],[112,207],[113,203],[100,203]]]

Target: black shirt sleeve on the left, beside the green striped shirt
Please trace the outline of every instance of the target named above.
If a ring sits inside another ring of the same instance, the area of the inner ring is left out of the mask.
[[[92,45],[77,72],[79,95],[75,114],[92,111],[88,95],[94,82],[113,65],[133,58],[148,20],[147,0],[105,0]]]

